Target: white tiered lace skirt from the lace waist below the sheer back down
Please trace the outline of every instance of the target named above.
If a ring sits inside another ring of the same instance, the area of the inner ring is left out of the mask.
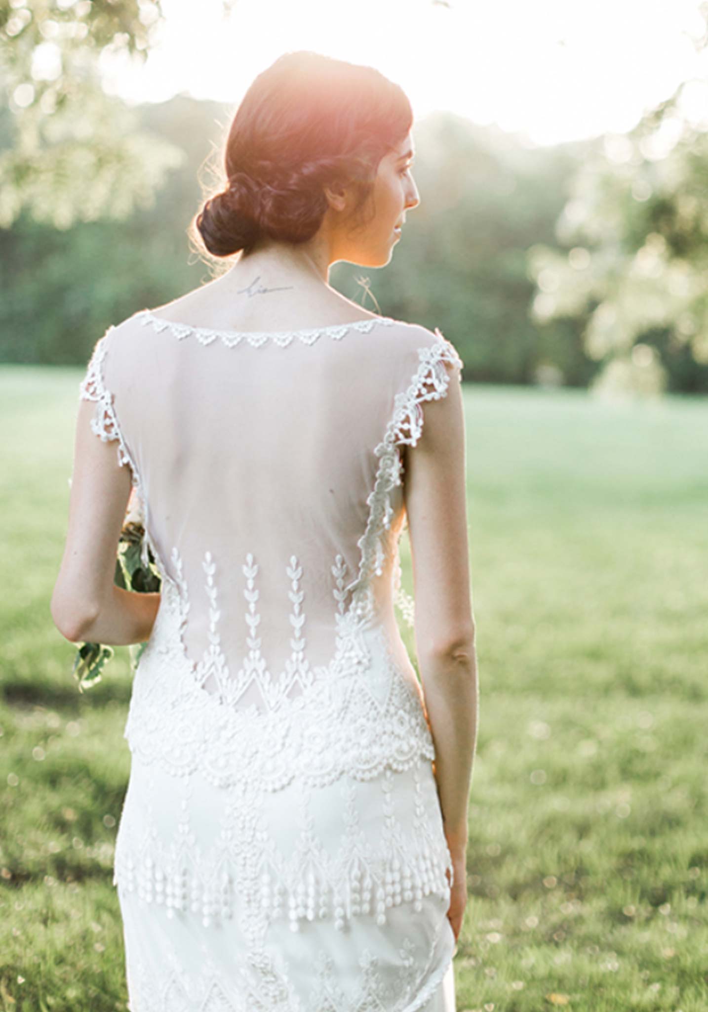
[[[380,627],[288,709],[195,684],[166,584],[113,881],[130,1012],[454,1012],[452,864],[415,675]]]

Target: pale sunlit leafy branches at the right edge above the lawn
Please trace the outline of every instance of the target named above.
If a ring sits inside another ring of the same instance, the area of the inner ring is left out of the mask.
[[[695,46],[706,49],[708,31]],[[602,386],[708,393],[707,81],[604,138],[555,236],[560,249],[529,251],[533,318],[582,321]]]

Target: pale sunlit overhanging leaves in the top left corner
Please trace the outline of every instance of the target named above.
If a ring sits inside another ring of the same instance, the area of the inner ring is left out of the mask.
[[[23,208],[59,229],[124,218],[181,163],[100,83],[101,56],[144,59],[161,17],[160,0],[0,0],[0,227]]]

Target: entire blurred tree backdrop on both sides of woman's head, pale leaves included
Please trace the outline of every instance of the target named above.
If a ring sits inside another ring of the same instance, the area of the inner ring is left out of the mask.
[[[234,109],[185,96],[128,109],[98,84],[99,55],[141,58],[160,17],[150,0],[0,3],[2,361],[85,362],[109,324],[211,275],[187,232]],[[48,45],[54,77],[36,60]],[[708,135],[680,99],[627,137],[535,150],[429,115],[414,128],[422,202],[385,273],[342,263],[331,282],[440,327],[466,380],[708,391]]]

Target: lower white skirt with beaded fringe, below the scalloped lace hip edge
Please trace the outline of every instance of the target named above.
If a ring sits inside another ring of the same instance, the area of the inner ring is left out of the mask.
[[[454,1012],[448,858],[428,759],[264,793],[134,756],[130,1012]]]

